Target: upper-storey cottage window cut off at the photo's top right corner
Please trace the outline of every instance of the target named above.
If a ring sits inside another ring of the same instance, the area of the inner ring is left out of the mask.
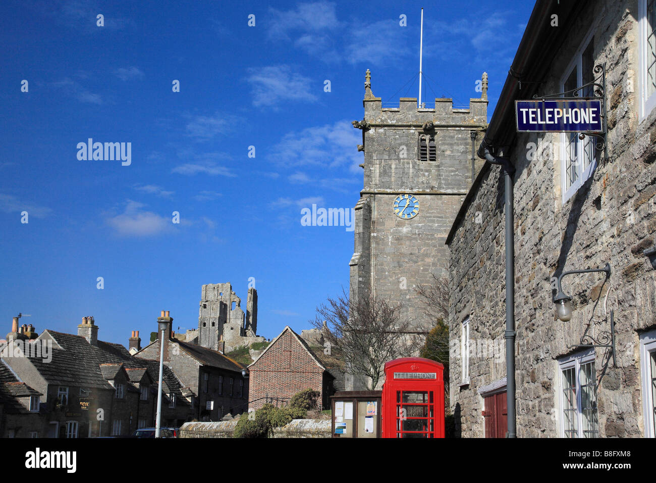
[[[656,106],[656,1],[640,0],[640,119]]]

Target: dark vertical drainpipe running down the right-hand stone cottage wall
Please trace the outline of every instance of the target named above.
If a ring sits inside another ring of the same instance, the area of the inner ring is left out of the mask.
[[[508,158],[495,157],[489,146],[483,148],[485,159],[502,166],[506,204],[506,400],[508,402],[508,438],[517,437],[515,411],[515,230],[512,175],[515,168]]]

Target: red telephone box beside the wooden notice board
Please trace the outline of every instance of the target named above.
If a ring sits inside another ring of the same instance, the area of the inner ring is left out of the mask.
[[[444,437],[444,366],[422,357],[385,363],[383,438]]]

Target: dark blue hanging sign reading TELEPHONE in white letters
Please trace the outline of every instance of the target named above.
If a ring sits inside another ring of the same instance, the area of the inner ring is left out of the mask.
[[[517,131],[603,132],[602,101],[515,101]]]

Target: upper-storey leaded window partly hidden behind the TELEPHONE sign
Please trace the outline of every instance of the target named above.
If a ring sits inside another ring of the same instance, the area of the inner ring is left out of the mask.
[[[594,80],[593,49],[594,37],[586,38],[583,47],[575,54],[565,71],[561,89],[566,97],[574,97],[574,89]],[[578,97],[591,97],[594,95],[593,90],[594,86],[589,85],[579,91]],[[597,166],[596,138],[584,136],[579,139],[579,133],[562,133],[560,136],[562,198],[563,202],[566,202],[592,176]]]

